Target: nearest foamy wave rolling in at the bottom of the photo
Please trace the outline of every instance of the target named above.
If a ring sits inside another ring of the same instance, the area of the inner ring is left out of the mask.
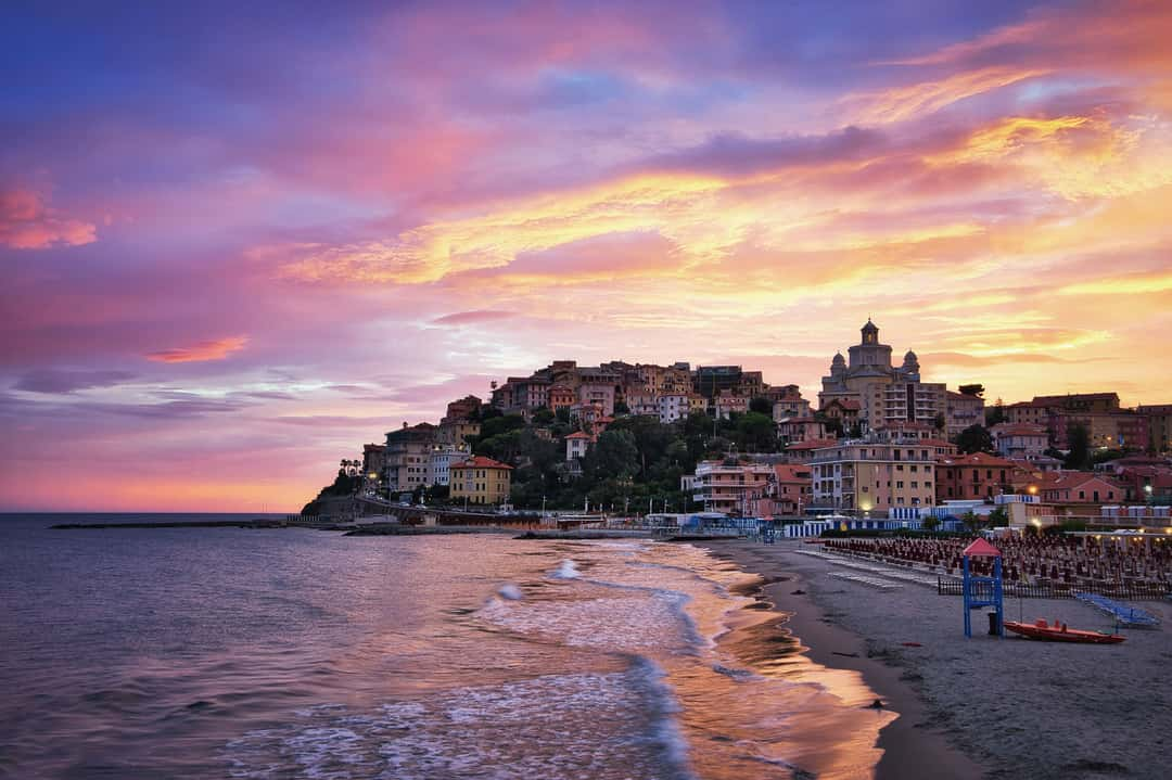
[[[373,711],[325,705],[227,743],[233,778],[688,780],[679,705],[652,662],[469,686]]]

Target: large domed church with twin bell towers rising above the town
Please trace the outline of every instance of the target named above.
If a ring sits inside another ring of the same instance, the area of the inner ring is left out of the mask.
[[[818,408],[826,409],[833,401],[858,404],[865,431],[907,423],[934,427],[947,410],[945,384],[920,381],[920,362],[912,350],[901,365],[893,365],[891,347],[879,341],[879,328],[870,319],[861,333],[863,340],[846,350],[849,360],[838,353],[831,361],[830,375],[822,378]]]

